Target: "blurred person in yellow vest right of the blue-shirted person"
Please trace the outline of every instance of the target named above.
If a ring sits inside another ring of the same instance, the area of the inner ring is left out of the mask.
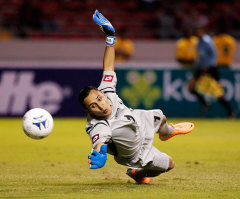
[[[216,65],[218,67],[229,68],[233,63],[236,41],[231,35],[228,35],[225,30],[223,26],[220,26],[213,41],[218,54]]]

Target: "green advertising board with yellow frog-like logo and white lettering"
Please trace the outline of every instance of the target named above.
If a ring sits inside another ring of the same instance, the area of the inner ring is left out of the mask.
[[[216,98],[204,95],[211,104],[204,112],[188,91],[192,71],[117,70],[117,92],[134,109],[161,109],[168,117],[227,117]],[[240,70],[220,70],[224,96],[236,113],[240,110]]]

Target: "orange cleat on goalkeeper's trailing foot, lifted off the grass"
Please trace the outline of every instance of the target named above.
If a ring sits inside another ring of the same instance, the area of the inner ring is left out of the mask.
[[[194,124],[191,122],[182,122],[179,124],[172,124],[170,123],[174,130],[171,135],[163,136],[159,134],[159,138],[162,141],[166,141],[175,135],[187,134],[190,133],[194,129]]]

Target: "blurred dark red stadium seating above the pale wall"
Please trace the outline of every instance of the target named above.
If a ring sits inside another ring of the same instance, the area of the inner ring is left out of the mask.
[[[217,26],[240,38],[238,0],[0,0],[0,30],[12,37],[85,39],[102,37],[90,21],[95,9],[131,39],[174,39],[184,26]],[[8,37],[7,37],[8,38]]]

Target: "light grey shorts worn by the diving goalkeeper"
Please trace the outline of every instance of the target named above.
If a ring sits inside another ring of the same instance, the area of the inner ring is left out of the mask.
[[[134,110],[137,123],[140,124],[139,131],[142,137],[141,147],[137,157],[132,161],[115,157],[119,164],[135,168],[146,168],[149,170],[166,171],[169,168],[169,156],[160,152],[153,144],[154,135],[157,133],[162,120],[163,113],[160,109]]]

